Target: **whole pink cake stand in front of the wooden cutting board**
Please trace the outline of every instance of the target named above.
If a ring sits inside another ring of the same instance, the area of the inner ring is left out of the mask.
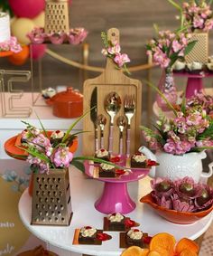
[[[93,177],[94,166],[85,161],[86,174]],[[137,181],[148,175],[150,169],[134,169],[128,175],[121,175],[120,178],[95,178],[105,183],[103,193],[95,203],[95,208],[100,213],[131,213],[134,211],[136,204],[131,199],[127,190],[127,183]]]

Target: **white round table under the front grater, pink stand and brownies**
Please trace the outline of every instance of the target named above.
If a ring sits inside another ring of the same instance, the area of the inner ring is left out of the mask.
[[[73,218],[68,227],[58,226],[40,226],[31,225],[32,214],[32,198],[29,196],[28,191],[25,190],[20,202],[19,213],[26,228],[35,236],[42,239],[53,246],[59,247],[61,250],[73,251],[84,253],[88,255],[100,256],[118,256],[123,249],[119,248],[119,232],[107,232],[112,235],[112,240],[103,242],[102,245],[73,245],[73,234],[76,228],[85,225],[96,227],[97,229],[103,228],[103,217],[105,214],[97,212],[94,203],[100,196],[103,190],[103,184],[94,179],[85,178],[77,169],[70,168],[70,190],[71,202],[73,209]],[[139,202],[139,199],[144,195],[143,185],[144,181],[133,182],[128,185],[129,194],[136,203],[134,212],[127,214],[135,222],[141,223],[139,228],[148,232],[153,236],[158,232],[170,232],[178,240],[181,237],[188,237],[192,240],[198,238],[203,232],[206,232],[213,219],[213,213],[208,214],[205,218],[197,223],[189,225],[181,225],[169,223],[162,219],[153,210]],[[61,253],[60,255],[68,255]]]

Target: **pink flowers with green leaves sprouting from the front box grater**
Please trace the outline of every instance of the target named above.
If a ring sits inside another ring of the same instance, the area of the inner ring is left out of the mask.
[[[62,134],[62,137],[56,135]],[[69,152],[75,135],[68,136],[62,131],[47,133],[27,123],[22,133],[22,145],[29,153],[27,162],[39,169],[40,173],[48,172],[50,168],[69,167],[73,154]]]

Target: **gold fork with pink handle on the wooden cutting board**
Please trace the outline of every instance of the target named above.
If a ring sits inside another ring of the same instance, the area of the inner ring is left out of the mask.
[[[135,100],[134,95],[125,95],[125,117],[127,119],[127,137],[126,137],[126,156],[130,156],[130,128],[131,119],[135,112]]]

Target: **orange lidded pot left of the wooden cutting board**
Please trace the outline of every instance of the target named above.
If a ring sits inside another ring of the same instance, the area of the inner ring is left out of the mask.
[[[69,87],[46,100],[52,106],[53,115],[63,119],[78,118],[83,113],[83,95]]]

